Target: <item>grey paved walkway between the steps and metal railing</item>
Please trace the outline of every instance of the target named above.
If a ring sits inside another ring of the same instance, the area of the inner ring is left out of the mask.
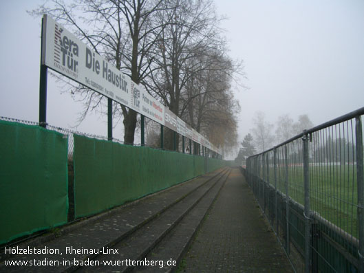
[[[231,172],[179,272],[293,272],[239,169]]]

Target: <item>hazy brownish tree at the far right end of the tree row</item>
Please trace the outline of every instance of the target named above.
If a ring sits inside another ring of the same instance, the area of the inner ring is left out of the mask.
[[[237,144],[240,107],[233,97],[231,80],[241,72],[241,66],[233,64],[224,51],[212,49],[196,54],[188,63],[192,64],[181,96],[182,118],[213,140],[215,146],[233,148]]]

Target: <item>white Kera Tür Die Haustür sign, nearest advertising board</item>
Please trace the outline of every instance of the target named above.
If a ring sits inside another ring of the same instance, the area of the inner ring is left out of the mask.
[[[131,79],[52,18],[43,21],[42,64],[130,107]]]

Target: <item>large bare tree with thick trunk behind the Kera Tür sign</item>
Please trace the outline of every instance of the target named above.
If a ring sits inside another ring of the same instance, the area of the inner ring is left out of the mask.
[[[151,17],[160,9],[161,3],[162,0],[74,0],[67,4],[63,0],[52,0],[30,14],[50,14],[139,84],[147,76],[151,64],[152,58],[147,54],[159,39],[156,30],[160,26],[154,25]],[[85,105],[80,121],[88,111],[100,109],[105,103],[105,98],[91,89],[81,85],[71,85],[71,89]],[[124,142],[133,144],[136,111],[115,104],[114,113],[122,113]]]

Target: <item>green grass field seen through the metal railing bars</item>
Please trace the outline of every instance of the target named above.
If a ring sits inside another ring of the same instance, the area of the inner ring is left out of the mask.
[[[356,166],[335,164],[310,166],[310,208],[345,232],[357,237]],[[269,168],[269,183],[274,186],[274,169]],[[284,167],[277,168],[277,188],[286,195]],[[266,178],[264,178],[266,179]],[[303,167],[288,167],[288,196],[304,204]]]

